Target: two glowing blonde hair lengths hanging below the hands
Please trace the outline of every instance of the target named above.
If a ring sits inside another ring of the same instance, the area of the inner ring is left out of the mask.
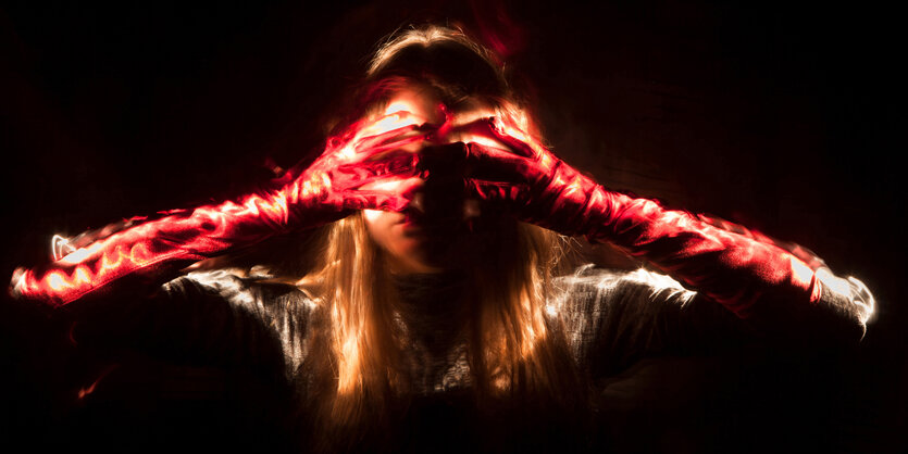
[[[473,301],[467,302],[467,329],[476,391],[489,398],[535,393],[560,401],[579,383],[562,333],[550,326],[545,311],[565,240],[511,219],[500,219],[497,227],[481,247],[465,252],[475,264],[467,278],[475,286]],[[320,401],[326,404],[322,423],[349,427],[366,416],[386,415],[389,399],[406,399],[413,390],[400,356],[402,333],[394,323],[396,290],[363,216],[333,224],[323,248],[322,265],[301,282],[318,295],[327,321],[322,342],[332,376],[323,384],[333,388],[323,386],[319,393],[333,398]]]

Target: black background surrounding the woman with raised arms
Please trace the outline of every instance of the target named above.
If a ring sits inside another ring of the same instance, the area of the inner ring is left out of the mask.
[[[786,433],[806,447],[908,446],[898,433],[908,362],[904,147],[895,136],[904,48],[894,11],[673,1],[0,4],[5,276],[47,260],[53,234],[236,196],[268,178],[266,160],[286,167],[311,157],[326,112],[376,42],[413,22],[462,24],[505,49],[569,163],[606,186],[798,242],[862,279],[879,306],[858,351],[816,369],[799,362],[748,375],[745,392],[759,388],[752,377],[772,377],[766,395],[776,398],[754,420],[804,424],[800,437]],[[4,303],[2,317],[4,429],[52,438],[73,418],[74,390],[103,375],[104,362],[72,366],[45,313]],[[834,384],[810,391],[824,377]],[[209,395],[204,387],[185,400]],[[671,425],[639,433],[669,437]],[[693,440],[659,446],[706,445]]]

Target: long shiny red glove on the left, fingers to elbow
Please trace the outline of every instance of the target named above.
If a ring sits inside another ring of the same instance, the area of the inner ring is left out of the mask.
[[[11,293],[63,305],[125,276],[160,276],[235,247],[339,219],[352,210],[401,211],[410,202],[406,191],[359,188],[415,175],[418,156],[394,151],[424,140],[420,123],[408,113],[396,113],[355,125],[329,141],[308,168],[288,172],[272,190],[169,212],[156,220],[133,218],[113,234],[99,230],[83,237],[75,250],[47,266],[17,269]]]

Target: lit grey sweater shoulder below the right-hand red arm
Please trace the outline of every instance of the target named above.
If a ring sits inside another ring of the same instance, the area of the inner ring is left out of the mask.
[[[707,352],[713,343],[749,336],[720,304],[649,269],[587,265],[555,279],[555,287],[547,312],[576,360],[595,374],[620,370],[646,355]]]

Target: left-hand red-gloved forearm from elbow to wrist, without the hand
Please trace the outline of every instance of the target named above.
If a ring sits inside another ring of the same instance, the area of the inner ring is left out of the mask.
[[[170,212],[153,220],[134,219],[103,238],[80,241],[62,257],[40,267],[18,269],[11,293],[63,305],[135,277],[160,283],[174,272],[235,248],[319,223],[302,207],[288,209],[285,191],[250,194],[238,201]],[[104,235],[103,232],[101,235]],[[133,279],[135,280],[135,279]]]

